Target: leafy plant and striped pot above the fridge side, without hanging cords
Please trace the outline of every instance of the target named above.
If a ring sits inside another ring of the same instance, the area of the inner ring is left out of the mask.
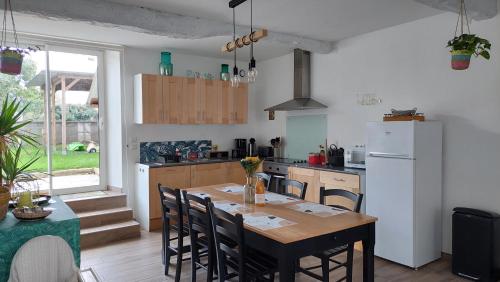
[[[490,59],[491,43],[475,34],[462,34],[448,41],[451,50],[451,67],[454,70],[465,70],[469,68],[472,55]]]

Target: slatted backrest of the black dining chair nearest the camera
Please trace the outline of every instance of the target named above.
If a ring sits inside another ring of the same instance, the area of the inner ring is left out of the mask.
[[[246,281],[243,216],[217,209],[213,203],[208,203],[208,210],[215,239],[219,281],[225,281],[228,266],[238,272],[239,281]]]

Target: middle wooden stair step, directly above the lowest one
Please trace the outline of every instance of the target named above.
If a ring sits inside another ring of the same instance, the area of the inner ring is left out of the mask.
[[[80,228],[82,229],[133,219],[133,211],[128,207],[81,212],[77,213],[77,215],[80,218]]]

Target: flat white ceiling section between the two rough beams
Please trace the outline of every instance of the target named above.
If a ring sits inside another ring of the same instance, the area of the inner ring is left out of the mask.
[[[228,0],[111,0],[155,10],[232,22]],[[254,0],[254,23],[269,30],[337,41],[442,13],[414,0]],[[250,25],[250,1],[236,8]]]

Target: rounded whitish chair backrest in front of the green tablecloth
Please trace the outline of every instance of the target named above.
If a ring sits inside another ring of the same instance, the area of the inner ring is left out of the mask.
[[[58,236],[35,237],[19,248],[12,260],[9,282],[77,282],[78,268],[73,251]]]

